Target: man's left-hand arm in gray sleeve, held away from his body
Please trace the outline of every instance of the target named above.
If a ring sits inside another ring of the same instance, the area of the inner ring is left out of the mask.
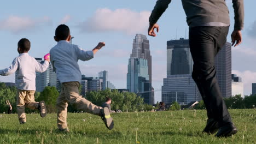
[[[148,35],[155,37],[156,34],[154,32],[154,29],[156,28],[156,31],[159,31],[159,26],[156,24],[160,16],[165,12],[165,10],[168,8],[168,4],[171,3],[171,0],[158,0],[155,4],[154,9],[152,10],[152,13],[149,17],[149,28],[148,28]]]

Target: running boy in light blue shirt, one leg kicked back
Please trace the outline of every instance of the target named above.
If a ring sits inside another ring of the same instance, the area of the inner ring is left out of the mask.
[[[82,74],[79,69],[78,60],[89,61],[105,43],[101,42],[92,50],[85,51],[79,46],[70,44],[71,35],[68,26],[60,25],[55,30],[55,45],[50,50],[51,63],[62,84],[62,89],[57,98],[57,127],[60,131],[69,132],[67,127],[67,106],[68,103],[76,109],[82,110],[97,116],[101,116],[106,127],[113,129],[113,118],[110,117],[108,107],[100,107],[79,95],[80,81]]]

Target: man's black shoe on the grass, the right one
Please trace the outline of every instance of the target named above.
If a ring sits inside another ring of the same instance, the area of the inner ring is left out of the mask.
[[[228,123],[223,127],[219,128],[218,133],[215,135],[217,137],[228,137],[237,133],[237,129],[233,123]]]

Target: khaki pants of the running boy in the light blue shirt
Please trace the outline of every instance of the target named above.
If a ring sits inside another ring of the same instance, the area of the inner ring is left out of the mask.
[[[59,97],[57,98],[57,125],[59,129],[67,129],[68,102],[78,110],[100,116],[102,107],[79,95],[79,82],[63,82]]]

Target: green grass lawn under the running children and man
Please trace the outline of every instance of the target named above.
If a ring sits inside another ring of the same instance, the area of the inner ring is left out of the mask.
[[[238,133],[228,138],[201,133],[205,110],[113,113],[113,130],[100,117],[68,113],[69,134],[56,131],[56,114],[28,114],[23,125],[16,114],[0,114],[0,143],[256,143],[256,110],[230,113]]]

